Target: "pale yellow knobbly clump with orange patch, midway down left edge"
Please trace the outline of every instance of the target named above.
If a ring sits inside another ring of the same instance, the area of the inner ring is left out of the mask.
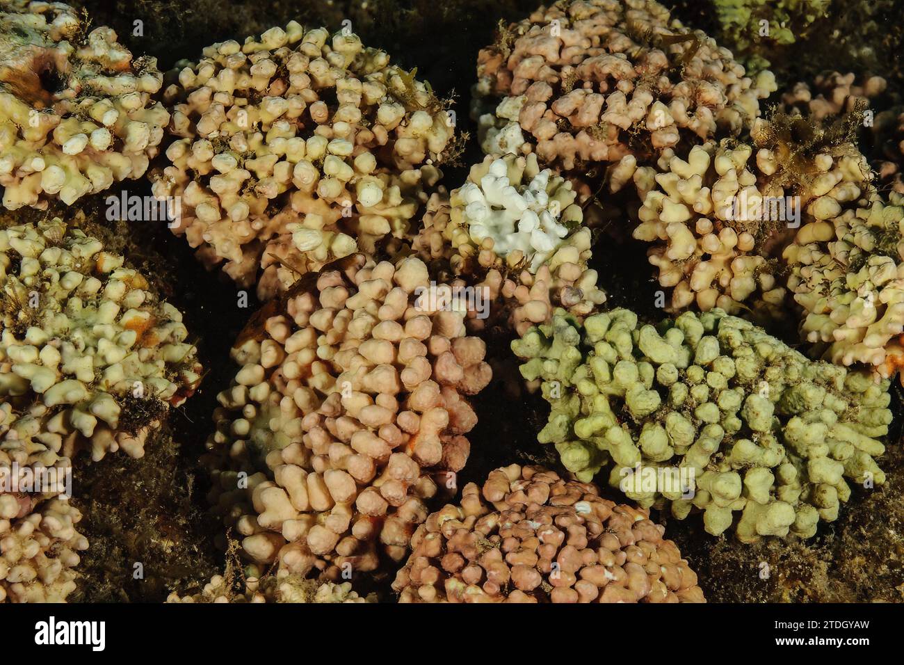
[[[124,261],[59,219],[0,231],[0,399],[42,404],[47,431],[95,460],[141,457],[201,375],[181,312]]]

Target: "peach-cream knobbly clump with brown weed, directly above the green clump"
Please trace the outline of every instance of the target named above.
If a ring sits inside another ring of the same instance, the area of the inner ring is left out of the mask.
[[[633,178],[643,200],[633,235],[653,243],[647,253],[660,285],[673,289],[670,311],[736,314],[747,307],[759,318],[781,317],[779,257],[791,229],[838,215],[862,195],[869,167],[856,146],[845,142],[814,155],[798,149],[792,157],[777,134],[776,125],[758,119],[749,145],[723,139],[692,147],[684,158],[668,148],[656,168],[626,157],[614,169],[613,181]],[[788,165],[795,160],[805,182]]]

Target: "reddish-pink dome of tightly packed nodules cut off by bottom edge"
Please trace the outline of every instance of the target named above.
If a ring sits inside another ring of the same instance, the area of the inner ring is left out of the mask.
[[[513,464],[430,515],[396,575],[401,603],[702,603],[697,575],[645,509]]]

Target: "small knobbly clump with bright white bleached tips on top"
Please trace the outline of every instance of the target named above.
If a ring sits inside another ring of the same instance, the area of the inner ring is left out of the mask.
[[[541,169],[536,155],[487,156],[451,195],[430,197],[413,249],[452,279],[450,299],[467,290],[480,297],[466,303],[469,330],[521,334],[556,307],[585,315],[606,294],[574,201],[570,183]]]

